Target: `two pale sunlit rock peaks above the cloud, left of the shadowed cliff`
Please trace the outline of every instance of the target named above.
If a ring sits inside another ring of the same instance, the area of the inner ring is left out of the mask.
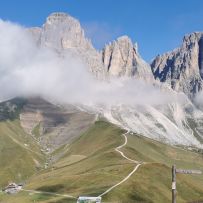
[[[98,52],[85,37],[79,21],[65,13],[53,13],[41,28],[30,28],[29,31],[39,46],[52,48],[58,53],[71,52],[82,58],[98,78],[153,79],[149,64],[142,60],[137,45],[133,45],[127,36],[118,38]]]

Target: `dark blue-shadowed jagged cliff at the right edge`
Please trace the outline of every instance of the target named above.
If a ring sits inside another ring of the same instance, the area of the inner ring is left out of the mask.
[[[180,48],[157,56],[151,67],[154,77],[174,90],[190,97],[199,92],[203,87],[203,33],[186,35]]]

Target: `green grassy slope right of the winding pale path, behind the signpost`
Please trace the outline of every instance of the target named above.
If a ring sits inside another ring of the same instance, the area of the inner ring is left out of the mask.
[[[129,157],[143,160],[146,165],[126,183],[107,195],[108,200],[132,202],[170,202],[171,165],[177,168],[203,171],[203,155],[171,147],[143,137],[128,135],[128,146],[123,150]],[[127,188],[127,189],[126,189]],[[177,201],[203,201],[203,175],[177,175]],[[123,192],[125,191],[125,192]]]

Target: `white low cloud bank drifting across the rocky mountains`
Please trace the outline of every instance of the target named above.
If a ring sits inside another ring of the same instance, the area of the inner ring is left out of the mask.
[[[17,96],[109,105],[158,105],[177,99],[144,81],[98,81],[76,56],[39,48],[25,28],[0,20],[0,100]]]

